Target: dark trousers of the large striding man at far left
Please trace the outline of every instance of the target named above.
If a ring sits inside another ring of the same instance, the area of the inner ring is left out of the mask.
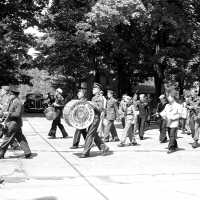
[[[15,139],[20,144],[20,147],[24,151],[25,155],[31,153],[26,137],[22,133],[21,127],[17,127],[16,123],[12,123],[9,124],[8,129],[4,134],[3,142],[0,146],[1,156],[4,156],[8,149],[8,146],[11,145]]]

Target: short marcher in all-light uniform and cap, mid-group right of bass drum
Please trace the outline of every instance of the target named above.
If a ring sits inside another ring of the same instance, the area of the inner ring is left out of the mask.
[[[126,138],[129,137],[130,145],[137,145],[135,139],[135,125],[136,119],[138,115],[137,106],[133,104],[131,97],[126,97],[126,112],[125,112],[125,128],[122,135],[122,139],[120,141],[119,147],[125,146]]]

